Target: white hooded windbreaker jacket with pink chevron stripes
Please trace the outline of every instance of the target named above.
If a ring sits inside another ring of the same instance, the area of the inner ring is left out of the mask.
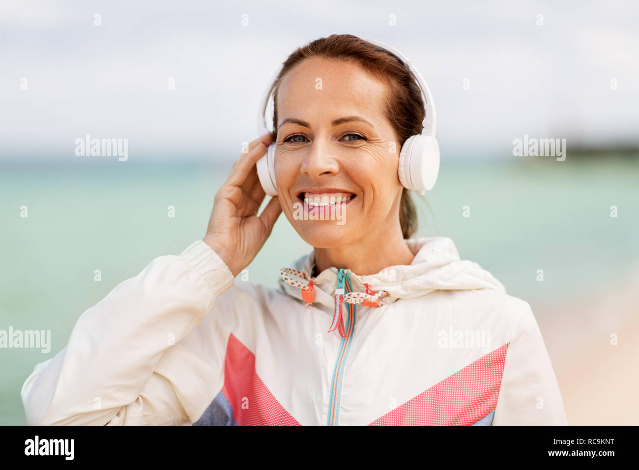
[[[234,283],[202,241],[160,256],[35,366],[27,423],[566,425],[528,303],[452,240],[406,242],[411,265],[319,273],[311,308],[303,275],[277,290]],[[313,266],[312,253],[291,265]]]

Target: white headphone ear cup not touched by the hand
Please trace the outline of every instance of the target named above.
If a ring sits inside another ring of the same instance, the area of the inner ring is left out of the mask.
[[[430,191],[439,174],[440,151],[432,136],[410,136],[399,152],[397,176],[407,189]]]

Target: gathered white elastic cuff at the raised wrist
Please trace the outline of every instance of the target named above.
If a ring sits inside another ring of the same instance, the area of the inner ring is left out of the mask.
[[[182,253],[189,267],[200,274],[217,297],[233,285],[233,273],[222,258],[202,240],[190,244]]]

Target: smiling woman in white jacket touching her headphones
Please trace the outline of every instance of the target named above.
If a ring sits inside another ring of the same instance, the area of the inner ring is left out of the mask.
[[[333,35],[293,52],[276,83],[275,131],[235,162],[203,240],[82,314],[22,388],[28,423],[565,425],[528,303],[452,240],[411,239],[389,151],[422,130],[408,68]],[[258,217],[272,141],[277,197]],[[279,290],[234,283],[281,212],[314,251]]]

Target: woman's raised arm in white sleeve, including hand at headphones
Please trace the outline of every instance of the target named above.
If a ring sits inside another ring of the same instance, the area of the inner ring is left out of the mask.
[[[215,194],[204,240],[160,256],[85,311],[69,343],[22,386],[29,425],[187,424],[221,379],[224,328],[197,329],[215,299],[258,254],[281,214],[256,162],[272,141],[249,144]],[[194,333],[196,343],[181,342]],[[221,385],[220,385],[221,386]],[[208,402],[206,401],[208,400]]]

